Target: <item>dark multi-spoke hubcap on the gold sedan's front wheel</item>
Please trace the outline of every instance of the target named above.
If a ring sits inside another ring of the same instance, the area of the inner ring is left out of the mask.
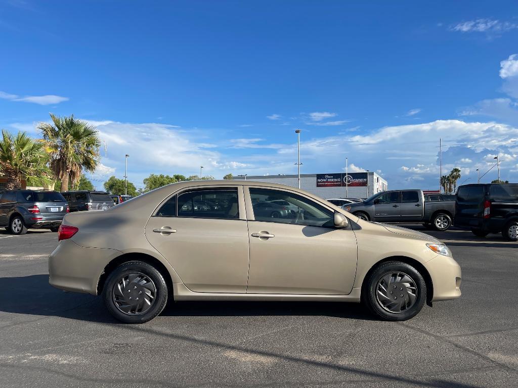
[[[385,310],[404,312],[417,299],[415,281],[403,272],[389,272],[380,277],[376,285],[376,300]]]

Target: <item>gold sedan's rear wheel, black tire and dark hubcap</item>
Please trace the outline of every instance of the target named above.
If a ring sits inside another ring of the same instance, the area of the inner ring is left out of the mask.
[[[104,301],[111,315],[125,323],[148,322],[167,303],[167,284],[162,274],[142,261],[119,265],[106,279]]]

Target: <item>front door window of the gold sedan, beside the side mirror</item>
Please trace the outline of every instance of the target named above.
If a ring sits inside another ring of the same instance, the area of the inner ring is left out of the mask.
[[[298,194],[271,189],[250,188],[256,221],[291,223],[316,227],[334,227],[334,212]],[[285,201],[282,206],[276,201]]]

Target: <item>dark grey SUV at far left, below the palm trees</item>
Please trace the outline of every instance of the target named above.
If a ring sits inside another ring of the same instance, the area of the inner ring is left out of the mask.
[[[61,193],[51,190],[7,190],[0,193],[0,227],[12,234],[25,234],[28,228],[57,232],[69,212]]]

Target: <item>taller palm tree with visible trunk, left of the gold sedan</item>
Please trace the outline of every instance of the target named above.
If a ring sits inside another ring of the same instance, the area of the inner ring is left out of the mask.
[[[61,190],[68,190],[68,182],[74,186],[84,169],[94,172],[99,162],[100,140],[94,126],[77,120],[74,115],[58,117],[50,114],[52,124],[40,123],[38,129],[50,154],[49,166],[61,180]]]

